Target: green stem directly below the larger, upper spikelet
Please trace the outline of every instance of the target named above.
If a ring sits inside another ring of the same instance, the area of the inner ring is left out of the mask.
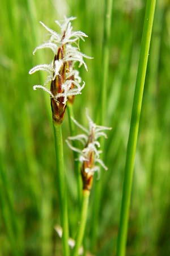
[[[56,148],[56,164],[57,164],[57,187],[59,197],[59,214],[61,219],[61,225],[63,229],[62,242],[63,253],[65,256],[69,256],[69,224],[67,213],[67,196],[65,186],[65,170],[63,164],[63,145],[62,145],[62,129],[61,125],[54,125],[54,137]]]

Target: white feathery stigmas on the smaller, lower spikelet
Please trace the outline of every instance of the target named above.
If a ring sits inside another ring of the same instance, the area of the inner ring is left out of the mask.
[[[106,127],[106,126],[100,126],[96,125],[90,116],[86,112],[86,116],[88,119],[88,129],[84,128],[80,123],[78,123],[75,119],[73,119],[73,122],[75,125],[77,125],[81,130],[84,131],[83,134],[76,135],[74,137],[68,137],[66,140],[67,145],[71,148],[71,150],[79,153],[79,161],[81,163],[83,162],[89,162],[90,159],[90,152],[94,152],[94,167],[92,168],[86,168],[85,172],[90,172],[91,174],[94,174],[95,171],[100,171],[99,165],[96,165],[97,163],[100,164],[104,168],[104,170],[108,170],[107,166],[105,166],[103,160],[100,159],[101,150],[100,148],[100,142],[98,139],[100,137],[107,138],[107,135],[104,133],[104,130],[111,130],[112,128]],[[92,138],[92,139],[90,139]],[[70,141],[79,141],[83,144],[83,148],[76,148],[73,147]],[[76,159],[77,160],[77,159]]]

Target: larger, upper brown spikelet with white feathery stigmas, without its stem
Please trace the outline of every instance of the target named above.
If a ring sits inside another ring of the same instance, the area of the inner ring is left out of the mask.
[[[38,49],[50,48],[54,53],[54,59],[50,64],[36,65],[29,71],[29,74],[35,73],[36,71],[48,72],[48,77],[44,85],[34,85],[33,89],[36,90],[40,88],[49,93],[53,121],[56,124],[60,124],[63,121],[67,101],[73,103],[74,96],[81,94],[85,85],[85,82],[80,85],[82,80],[79,77],[79,72],[74,68],[75,62],[79,63],[79,67],[84,65],[84,68],[87,70],[87,65],[83,58],[92,59],[79,51],[79,39],[84,41],[87,35],[82,31],[73,31],[71,20],[74,19],[74,17],[65,17],[62,24],[56,20],[61,30],[60,34],[40,22],[49,32],[50,38],[48,42],[37,46],[33,54],[35,54]],[[49,81],[51,82],[50,90],[45,87]]]

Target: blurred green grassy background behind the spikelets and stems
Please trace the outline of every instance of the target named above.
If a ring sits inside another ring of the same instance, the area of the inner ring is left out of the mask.
[[[110,40],[109,79],[105,125],[113,127],[105,142],[109,170],[102,179],[99,229],[91,245],[94,191],[90,199],[84,246],[95,255],[115,255],[130,113],[137,75],[146,1],[114,0]],[[47,39],[39,23],[58,30],[54,20],[76,16],[74,30],[86,32],[80,49],[88,72],[80,68],[86,87],[75,98],[75,118],[87,125],[99,112],[103,61],[104,1],[1,0],[0,9],[0,255],[62,255],[54,231],[59,224],[56,164],[50,100],[34,84],[45,73],[28,75],[40,63],[50,63],[49,49],[32,55]],[[170,255],[170,2],[158,0],[143,96],[133,192],[128,256]],[[70,135],[67,115],[63,139]],[[70,234],[76,230],[76,179],[73,154],[64,143]],[[103,170],[102,170],[103,171]],[[95,184],[94,184],[95,189]]]

